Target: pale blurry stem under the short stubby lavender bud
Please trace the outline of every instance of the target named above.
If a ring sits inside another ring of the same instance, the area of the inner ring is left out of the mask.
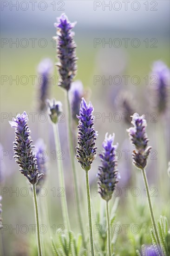
[[[54,132],[56,152],[58,153],[59,151],[61,151],[58,124],[53,124],[53,132]],[[63,188],[65,191],[64,170],[63,170],[63,163],[61,159],[57,159],[57,166],[58,166],[58,173],[59,173],[59,186]],[[61,197],[61,208],[62,208],[62,215],[63,215],[65,229],[69,231],[71,229],[70,229],[70,222],[69,222],[69,216],[68,216],[66,193],[64,196]]]

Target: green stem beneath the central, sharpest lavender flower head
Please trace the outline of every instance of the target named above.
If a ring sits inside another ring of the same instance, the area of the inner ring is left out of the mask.
[[[90,202],[90,188],[89,188],[88,171],[85,171],[85,183],[86,183],[87,206],[88,206],[88,217],[89,217],[90,248],[91,248],[91,255],[94,256],[93,234],[92,234],[92,213],[91,213],[91,202]]]

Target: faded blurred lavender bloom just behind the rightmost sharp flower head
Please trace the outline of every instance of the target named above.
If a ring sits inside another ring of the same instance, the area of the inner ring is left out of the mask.
[[[118,110],[121,110],[125,115],[125,122],[131,123],[131,115],[135,113],[136,102],[134,101],[133,95],[129,91],[120,91],[116,98],[116,105]]]

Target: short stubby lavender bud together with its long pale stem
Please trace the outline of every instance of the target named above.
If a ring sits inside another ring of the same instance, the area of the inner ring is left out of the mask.
[[[56,152],[61,150],[60,140],[59,140],[59,128],[58,128],[58,119],[59,115],[62,112],[62,104],[60,101],[49,101],[47,100],[48,112],[52,121],[53,133],[54,133],[54,141]],[[58,173],[59,173],[59,186],[64,188],[65,191],[65,180],[64,180],[64,169],[62,160],[57,159]],[[67,230],[70,230],[70,221],[68,216],[68,208],[67,208],[67,200],[66,194],[61,197],[61,207],[64,225]]]

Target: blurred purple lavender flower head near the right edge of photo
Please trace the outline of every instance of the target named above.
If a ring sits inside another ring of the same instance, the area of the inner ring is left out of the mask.
[[[158,112],[163,113],[167,108],[169,95],[168,87],[170,87],[170,69],[162,61],[156,61],[153,63],[151,75],[156,80],[154,82],[156,85],[153,85],[156,92],[154,104]]]

